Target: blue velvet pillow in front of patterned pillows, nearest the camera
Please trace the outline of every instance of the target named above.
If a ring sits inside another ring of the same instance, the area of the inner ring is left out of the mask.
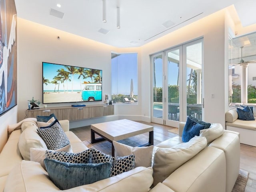
[[[109,162],[83,164],[44,159],[44,164],[50,179],[60,190],[91,184],[109,178],[111,174]]]

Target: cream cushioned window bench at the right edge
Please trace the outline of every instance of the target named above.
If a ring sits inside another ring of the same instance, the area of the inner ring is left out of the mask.
[[[256,146],[256,120],[239,120],[236,108],[230,109],[226,112],[225,118],[226,130],[239,132],[240,142],[242,144]]]

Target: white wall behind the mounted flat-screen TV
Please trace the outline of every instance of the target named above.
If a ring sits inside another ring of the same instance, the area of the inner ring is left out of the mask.
[[[111,52],[116,51],[115,47],[22,18],[18,18],[17,23],[19,121],[26,116],[27,100],[34,97],[42,101],[42,62],[102,69],[102,94],[111,94]],[[88,102],[85,104],[88,105]],[[47,104],[48,107],[70,105],[71,103]],[[92,122],[91,120],[90,123]],[[70,127],[83,125],[86,122],[74,122]]]

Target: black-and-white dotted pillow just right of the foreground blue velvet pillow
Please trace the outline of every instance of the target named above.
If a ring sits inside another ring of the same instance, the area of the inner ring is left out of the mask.
[[[114,158],[114,164],[112,167],[112,176],[116,176],[126,171],[134,169],[135,155],[129,155],[124,157]]]

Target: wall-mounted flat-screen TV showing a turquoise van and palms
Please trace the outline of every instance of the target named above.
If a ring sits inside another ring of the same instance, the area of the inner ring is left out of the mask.
[[[102,70],[42,62],[43,103],[102,101]]]

